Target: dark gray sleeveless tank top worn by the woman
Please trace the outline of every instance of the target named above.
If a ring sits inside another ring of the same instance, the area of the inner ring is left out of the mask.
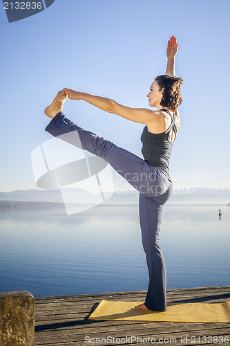
[[[156,167],[160,172],[166,175],[169,181],[171,181],[169,176],[169,160],[173,143],[169,142],[169,132],[173,127],[175,136],[177,134],[177,128],[175,127],[175,114],[173,113],[172,116],[170,111],[167,109],[160,109],[160,111],[166,111],[169,113],[172,119],[171,125],[161,134],[153,134],[148,131],[146,126],[144,127],[140,138],[143,144],[142,155],[149,165]]]

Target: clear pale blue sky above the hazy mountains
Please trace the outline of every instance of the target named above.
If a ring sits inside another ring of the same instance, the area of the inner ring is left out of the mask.
[[[9,24],[1,3],[0,191],[37,188],[31,152],[51,138],[44,108],[70,87],[148,108],[149,86],[179,42],[180,131],[171,154],[175,188],[230,188],[229,0],[55,0]],[[155,110],[155,109],[153,109]],[[67,100],[66,116],[142,157],[144,125]]]

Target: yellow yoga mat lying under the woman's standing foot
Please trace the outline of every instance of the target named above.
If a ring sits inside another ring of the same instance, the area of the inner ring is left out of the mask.
[[[134,309],[143,302],[102,300],[91,313],[90,320],[222,322],[230,323],[230,302],[186,303],[167,306],[164,312]]]

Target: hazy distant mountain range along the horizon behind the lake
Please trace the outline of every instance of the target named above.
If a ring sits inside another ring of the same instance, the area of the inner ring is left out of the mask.
[[[88,200],[94,196],[91,192],[78,188],[66,188],[69,193],[76,194],[79,201]],[[138,203],[138,192],[114,192],[103,204]],[[60,190],[16,190],[0,192],[0,201],[33,201],[63,203]],[[194,188],[175,190],[167,204],[227,204],[230,203],[230,189]],[[2,204],[2,203],[1,203]]]

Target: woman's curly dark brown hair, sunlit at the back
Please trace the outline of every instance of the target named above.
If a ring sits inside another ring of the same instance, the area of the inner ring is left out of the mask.
[[[171,109],[171,111],[176,111],[182,102],[182,95],[180,93],[183,82],[182,78],[171,77],[170,75],[157,75],[155,80],[159,85],[160,91],[164,89],[160,104],[163,107]]]

